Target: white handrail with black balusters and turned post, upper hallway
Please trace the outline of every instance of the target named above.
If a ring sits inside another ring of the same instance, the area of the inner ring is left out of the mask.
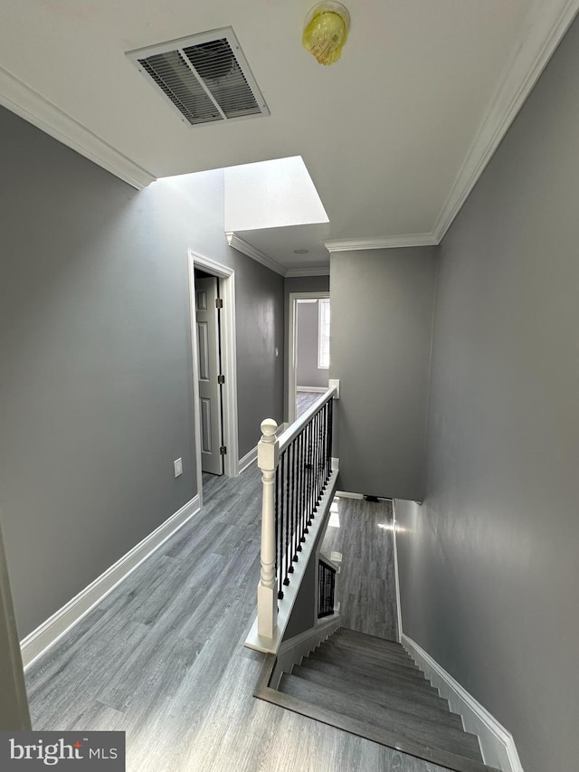
[[[278,602],[289,586],[294,564],[315,519],[332,473],[333,401],[331,386],[318,401],[276,437],[278,424],[261,423],[257,462],[262,473],[261,578],[257,632],[273,638]]]

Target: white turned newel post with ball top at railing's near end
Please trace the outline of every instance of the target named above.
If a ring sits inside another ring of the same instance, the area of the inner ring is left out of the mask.
[[[261,469],[263,501],[261,505],[261,579],[257,588],[257,632],[273,638],[278,625],[278,593],[275,576],[275,471],[280,448],[275,433],[278,424],[272,418],[261,422],[261,440],[257,463]]]

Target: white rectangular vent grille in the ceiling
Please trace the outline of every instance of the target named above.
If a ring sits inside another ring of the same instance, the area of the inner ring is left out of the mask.
[[[270,114],[232,27],[127,55],[193,126]]]

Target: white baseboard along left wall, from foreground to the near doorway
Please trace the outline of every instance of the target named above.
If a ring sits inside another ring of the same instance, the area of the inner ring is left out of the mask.
[[[185,506],[166,519],[164,523],[145,537],[113,566],[97,577],[89,586],[71,598],[55,614],[39,625],[20,642],[24,669],[30,667],[38,657],[45,653],[62,635],[68,633],[74,624],[81,621],[95,605],[126,579],[128,575],[151,556],[167,538],[192,518],[199,511],[199,496],[187,501]]]

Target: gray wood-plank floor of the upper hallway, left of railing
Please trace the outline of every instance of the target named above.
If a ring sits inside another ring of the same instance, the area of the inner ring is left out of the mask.
[[[124,730],[128,772],[441,772],[252,697],[260,472],[204,487],[204,509],[28,670],[33,728]]]

